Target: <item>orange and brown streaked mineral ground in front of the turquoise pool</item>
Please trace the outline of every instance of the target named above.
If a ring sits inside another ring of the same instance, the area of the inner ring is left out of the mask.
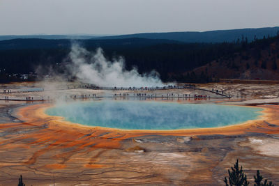
[[[269,139],[279,134],[277,105],[239,125],[169,131],[87,127],[48,116],[52,106],[22,107],[22,123],[0,125],[0,185],[20,174],[27,185],[50,185],[53,176],[58,185],[223,185],[236,158],[249,178],[261,168],[279,181],[279,155],[266,159],[251,144],[277,140]]]

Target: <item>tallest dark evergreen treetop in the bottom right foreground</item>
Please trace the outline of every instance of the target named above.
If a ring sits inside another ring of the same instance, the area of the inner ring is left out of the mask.
[[[249,182],[246,174],[243,173],[242,166],[239,168],[239,160],[236,160],[236,164],[231,169],[232,171],[227,170],[229,173],[229,185],[226,177],[224,180],[226,186],[248,186]]]

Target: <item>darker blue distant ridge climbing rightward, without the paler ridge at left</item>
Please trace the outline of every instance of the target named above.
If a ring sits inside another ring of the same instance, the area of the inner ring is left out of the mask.
[[[266,27],[259,29],[232,29],[217,31],[185,31],[185,32],[167,32],[167,33],[135,33],[121,36],[105,36],[94,39],[124,39],[124,38],[146,38],[146,39],[165,39],[177,40],[180,42],[233,42],[247,37],[248,42],[264,36],[276,36],[279,32],[279,26]]]

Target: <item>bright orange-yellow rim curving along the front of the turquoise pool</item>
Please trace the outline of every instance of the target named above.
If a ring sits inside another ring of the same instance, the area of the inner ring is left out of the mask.
[[[42,125],[43,123],[49,123],[52,127],[59,127],[63,129],[68,129],[84,132],[89,130],[94,130],[94,132],[107,132],[105,137],[111,138],[116,135],[117,139],[127,139],[130,137],[137,137],[147,134],[160,134],[160,135],[209,135],[209,134],[243,134],[245,132],[278,132],[278,129],[266,125],[266,122],[277,123],[279,117],[276,116],[276,110],[279,106],[276,105],[264,105],[261,108],[264,109],[258,120],[247,121],[246,123],[241,123],[238,125],[230,125],[225,127],[214,127],[214,128],[202,128],[202,129],[187,129],[187,130],[119,130],[106,127],[89,127],[80,125],[78,123],[70,123],[64,121],[63,117],[59,116],[49,116],[45,114],[45,109],[53,107],[52,104],[36,104],[30,107],[24,107],[18,112],[20,119],[26,121],[27,123],[33,123],[36,125]],[[252,107],[252,106],[243,106]],[[30,115],[31,114],[31,115]],[[260,128],[260,130],[259,130]],[[118,137],[119,134],[121,137]]]

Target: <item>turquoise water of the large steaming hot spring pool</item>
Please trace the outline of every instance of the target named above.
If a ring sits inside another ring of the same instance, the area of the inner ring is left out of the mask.
[[[51,116],[82,125],[127,130],[177,130],[234,125],[257,119],[259,108],[218,104],[144,101],[96,101],[61,104],[47,109]]]

